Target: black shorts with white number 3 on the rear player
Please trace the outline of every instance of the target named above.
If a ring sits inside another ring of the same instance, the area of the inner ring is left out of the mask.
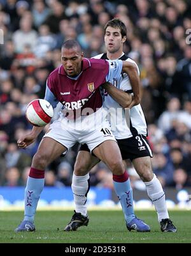
[[[122,158],[125,159],[136,159],[144,156],[152,155],[152,150],[148,140],[143,135],[135,135],[128,139],[117,140],[118,147],[120,148]],[[80,151],[89,151],[87,144],[81,144]],[[94,155],[94,154],[92,154]]]

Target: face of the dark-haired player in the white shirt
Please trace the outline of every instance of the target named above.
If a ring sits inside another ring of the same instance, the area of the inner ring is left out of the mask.
[[[106,28],[104,41],[105,41],[106,49],[108,52],[115,53],[115,52],[118,52],[118,50],[122,50],[125,40],[126,40],[126,36],[122,38],[122,34],[118,27]]]

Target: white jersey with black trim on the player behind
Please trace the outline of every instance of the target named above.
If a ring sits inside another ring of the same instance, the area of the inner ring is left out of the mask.
[[[95,59],[108,59],[106,54],[99,54]],[[119,59],[122,61],[130,61],[135,63],[126,54],[123,54]],[[138,65],[136,64],[137,68]],[[139,72],[139,68],[138,68]],[[113,86],[127,93],[132,93],[131,83],[126,73],[120,75],[120,79],[110,81]],[[124,109],[119,105],[108,93],[104,93],[104,107],[108,110],[108,119],[111,122],[111,130],[116,139],[127,139],[137,134],[147,135],[147,126],[145,116],[141,105],[132,107],[131,110]]]

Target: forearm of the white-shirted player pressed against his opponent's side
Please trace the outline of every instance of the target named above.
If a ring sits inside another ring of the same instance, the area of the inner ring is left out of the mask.
[[[117,87],[113,86],[109,82],[103,84],[104,89],[108,94],[118,102],[122,107],[127,108],[132,102],[132,96],[129,93],[125,93],[124,91],[117,89]]]

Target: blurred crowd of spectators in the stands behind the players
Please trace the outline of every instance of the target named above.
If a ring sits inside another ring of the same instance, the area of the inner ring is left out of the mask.
[[[60,64],[63,41],[75,39],[85,57],[105,51],[104,25],[118,17],[127,26],[124,52],[138,63],[141,105],[153,150],[153,170],[162,185],[177,190],[191,184],[191,1],[118,0],[58,1],[0,0],[0,185],[25,185],[38,140],[17,148],[29,132],[25,108],[43,98],[46,77]],[[1,33],[2,34],[2,33]],[[78,152],[46,170],[46,186],[70,186]],[[127,162],[134,187],[139,177]],[[112,175],[103,163],[91,171],[94,186],[112,188]]]

